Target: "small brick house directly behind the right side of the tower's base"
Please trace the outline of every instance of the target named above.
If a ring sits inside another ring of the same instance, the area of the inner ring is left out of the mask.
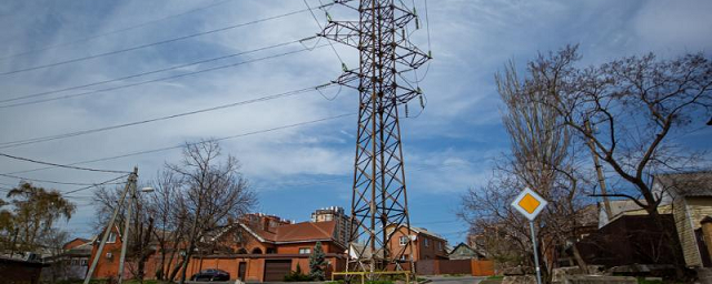
[[[386,232],[393,232],[395,225],[390,225],[386,229]],[[411,227],[411,240],[413,241],[413,261],[417,262],[421,260],[447,260],[447,241],[442,236],[427,231],[423,227]],[[405,254],[403,255],[404,260],[407,260],[411,255],[408,244],[408,229],[404,225],[400,225],[398,230],[390,237],[390,251],[398,252],[405,248]]]

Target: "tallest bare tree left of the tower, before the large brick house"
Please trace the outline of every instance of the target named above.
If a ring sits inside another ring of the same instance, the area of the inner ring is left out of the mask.
[[[180,283],[186,280],[188,262],[205,233],[244,215],[256,204],[237,159],[227,155],[220,161],[220,145],[214,140],[187,143],[182,162],[167,164],[182,181],[186,217],[190,221]]]

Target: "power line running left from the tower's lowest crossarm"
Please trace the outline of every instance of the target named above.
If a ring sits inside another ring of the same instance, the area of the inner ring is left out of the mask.
[[[316,85],[316,87],[304,88],[304,89],[294,90],[294,91],[287,91],[287,92],[277,93],[277,94],[265,95],[265,97],[260,97],[260,98],[257,98],[257,99],[250,99],[250,100],[245,100],[245,101],[239,101],[239,102],[234,102],[234,103],[221,104],[221,105],[211,106],[211,108],[207,108],[207,109],[200,109],[200,110],[182,112],[182,113],[177,113],[177,114],[171,114],[171,115],[166,115],[166,116],[160,116],[160,118],[155,118],[155,119],[148,119],[148,120],[129,122],[129,123],[122,123],[122,124],[117,124],[117,125],[111,125],[111,126],[103,126],[103,128],[98,128],[98,129],[82,130],[82,131],[76,131],[76,132],[70,132],[70,133],[49,135],[49,136],[41,136],[41,138],[33,138],[33,139],[17,140],[17,141],[10,141],[10,142],[1,142],[0,143],[0,149],[8,149],[8,148],[14,148],[14,146],[19,146],[19,145],[34,144],[34,143],[47,142],[47,141],[52,141],[52,140],[58,140],[58,139],[72,138],[72,136],[78,136],[78,135],[96,133],[96,132],[102,132],[102,131],[115,130],[115,129],[127,128],[127,126],[134,126],[134,125],[139,125],[139,124],[146,124],[146,123],[151,123],[151,122],[157,122],[157,121],[170,120],[170,119],[176,119],[176,118],[181,118],[181,116],[187,116],[187,115],[192,115],[192,114],[198,114],[198,113],[204,113],[204,112],[217,111],[217,110],[227,109],[227,108],[234,108],[234,106],[238,106],[238,105],[251,104],[251,103],[256,103],[256,102],[269,101],[269,100],[275,100],[275,99],[279,99],[279,98],[296,95],[296,94],[299,94],[299,93],[310,92],[310,91],[314,91],[314,90],[317,90],[317,89],[322,89],[322,88],[326,88],[326,87],[329,87],[329,85],[332,85],[332,83],[326,83],[326,84],[320,84],[320,85]]]

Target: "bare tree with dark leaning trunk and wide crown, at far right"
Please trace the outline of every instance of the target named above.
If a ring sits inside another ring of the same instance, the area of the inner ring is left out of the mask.
[[[664,233],[665,243],[674,243],[657,213],[665,192],[653,191],[652,175],[700,162],[703,153],[671,139],[704,126],[712,112],[712,62],[701,53],[673,60],[650,53],[582,69],[573,65],[578,59],[576,47],[566,47],[528,64],[538,74],[532,80],[546,87],[542,102],[592,144],[591,152],[614,173],[615,182],[631,185],[606,195],[635,202]],[[682,267],[678,250],[673,255]]]

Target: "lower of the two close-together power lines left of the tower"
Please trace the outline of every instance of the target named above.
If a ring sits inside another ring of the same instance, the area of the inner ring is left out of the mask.
[[[322,48],[322,47],[325,47],[325,45],[319,45],[319,47],[316,47],[316,48]],[[314,49],[312,49],[312,50],[314,50]],[[275,59],[275,58],[285,57],[285,55],[289,55],[289,54],[295,54],[295,53],[299,53],[299,52],[304,52],[304,51],[310,51],[310,50],[304,48],[304,49],[289,51],[289,52],[284,52],[284,53],[278,53],[278,54],[274,54],[274,55],[269,55],[269,57],[240,61],[240,62],[237,62],[237,63],[208,68],[208,69],[198,70],[198,71],[194,71],[194,72],[187,72],[187,73],[177,74],[177,75],[162,77],[162,78],[158,78],[158,79],[141,81],[141,82],[136,82],[136,83],[130,83],[130,84],[105,88],[105,89],[99,89],[99,90],[93,90],[93,91],[88,91],[88,92],[82,92],[82,93],[67,94],[67,95],[55,97],[55,98],[49,98],[49,99],[34,100],[34,101],[29,101],[29,102],[20,102],[20,103],[14,103],[14,104],[0,105],[0,109],[7,109],[7,108],[13,108],[13,106],[20,106],[20,105],[28,105],[28,104],[37,104],[37,103],[57,101],[57,100],[66,100],[66,99],[71,99],[71,98],[77,98],[77,97],[82,97],[82,95],[88,95],[88,94],[95,94],[95,93],[100,93],[100,92],[108,92],[108,91],[113,91],[113,90],[119,90],[119,89],[126,89],[126,88],[130,88],[130,87],[144,85],[144,84],[148,84],[148,83],[168,81],[168,80],[184,78],[184,77],[188,77],[188,75],[195,75],[195,74],[211,72],[211,71],[216,71],[216,70],[238,67],[238,65],[243,65],[243,64],[247,64],[247,63],[254,63],[254,62],[257,62],[257,61]]]

